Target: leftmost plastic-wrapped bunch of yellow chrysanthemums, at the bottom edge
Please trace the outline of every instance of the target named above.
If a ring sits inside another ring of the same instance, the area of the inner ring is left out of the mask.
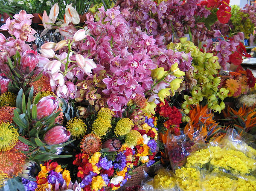
[[[156,175],[148,179],[143,185],[143,191],[178,191],[176,180],[172,171],[157,165],[155,168]]]

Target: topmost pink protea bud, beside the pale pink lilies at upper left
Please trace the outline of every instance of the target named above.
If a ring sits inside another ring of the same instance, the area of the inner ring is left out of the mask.
[[[34,50],[26,50],[20,59],[20,67],[23,73],[32,72],[39,62],[39,55]]]

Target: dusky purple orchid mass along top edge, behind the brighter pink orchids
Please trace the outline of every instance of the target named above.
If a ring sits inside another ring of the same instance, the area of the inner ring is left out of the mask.
[[[212,32],[208,31],[204,23],[196,20],[207,18],[210,11],[200,4],[201,0],[166,0],[157,4],[152,0],[119,0],[117,5],[121,10],[128,9],[126,16],[130,26],[140,26],[148,35],[166,36],[167,42],[176,33],[182,37],[188,28],[201,40],[206,40]]]

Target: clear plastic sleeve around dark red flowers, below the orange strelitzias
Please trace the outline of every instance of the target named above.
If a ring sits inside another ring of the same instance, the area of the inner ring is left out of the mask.
[[[205,147],[203,139],[197,137],[196,139],[190,140],[186,135],[174,136],[169,132],[166,149],[168,150],[172,170],[175,171],[181,168],[191,153],[203,147]]]

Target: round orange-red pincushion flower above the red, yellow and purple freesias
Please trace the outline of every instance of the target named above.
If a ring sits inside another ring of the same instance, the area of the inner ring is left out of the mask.
[[[99,136],[90,133],[84,136],[80,145],[81,151],[85,154],[93,154],[102,148],[102,141]]]

